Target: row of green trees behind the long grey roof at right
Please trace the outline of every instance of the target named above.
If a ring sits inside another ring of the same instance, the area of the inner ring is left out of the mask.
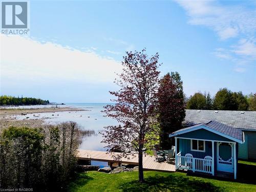
[[[191,110],[230,110],[230,111],[256,111],[256,93],[243,95],[232,92],[227,88],[220,89],[214,97],[210,93],[195,93],[186,101],[186,109]]]

